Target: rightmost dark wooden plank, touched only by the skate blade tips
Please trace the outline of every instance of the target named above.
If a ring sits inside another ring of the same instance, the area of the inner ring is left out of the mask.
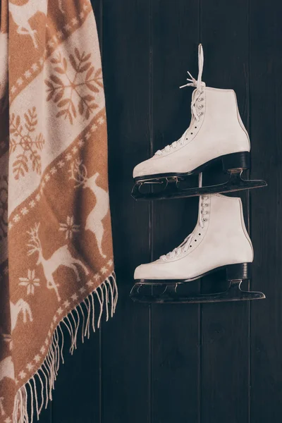
[[[252,195],[252,288],[266,294],[251,314],[252,423],[282,419],[281,16],[281,2],[250,0],[252,177],[269,183]]]

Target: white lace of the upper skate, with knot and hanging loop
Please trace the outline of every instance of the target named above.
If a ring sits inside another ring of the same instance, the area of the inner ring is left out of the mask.
[[[204,51],[202,49],[202,44],[199,44],[199,48],[198,48],[198,66],[199,66],[199,72],[198,72],[197,80],[195,80],[195,78],[193,78],[191,73],[188,71],[188,75],[190,76],[190,78],[187,78],[188,83],[185,84],[185,85],[181,85],[181,87],[180,87],[180,88],[196,87],[196,90],[194,90],[193,93],[192,93],[192,102],[191,102],[192,121],[191,121],[191,124],[190,124],[189,128],[187,130],[185,130],[185,133],[180,138],[180,140],[173,141],[172,144],[166,145],[166,147],[164,147],[164,149],[158,150],[155,153],[157,156],[161,156],[161,154],[163,154],[163,152],[166,152],[166,153],[169,152],[171,150],[171,148],[175,149],[176,147],[178,147],[178,145],[183,145],[183,140],[186,137],[186,133],[188,133],[188,131],[190,130],[191,125],[193,125],[195,121],[197,121],[197,122],[200,121],[200,116],[198,114],[196,105],[197,105],[198,99],[200,98],[200,96],[203,93],[202,90],[205,87],[205,83],[202,82],[202,71],[203,71],[203,67],[204,67]]]

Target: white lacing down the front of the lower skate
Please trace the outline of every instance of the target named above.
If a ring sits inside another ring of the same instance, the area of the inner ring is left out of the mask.
[[[202,173],[199,174],[199,188],[202,187]],[[198,224],[195,227],[194,231],[192,233],[190,233],[185,240],[183,241],[183,243],[181,243],[180,245],[178,245],[178,247],[174,248],[172,251],[168,252],[166,255],[161,255],[161,257],[159,257],[160,259],[164,260],[164,262],[166,262],[166,260],[169,259],[174,259],[175,257],[180,257],[180,255],[183,254],[183,252],[187,252],[190,242],[191,240],[194,238],[195,233],[197,232],[197,229],[200,228],[204,228],[204,223],[207,220],[205,217],[203,217],[204,214],[206,214],[206,212],[204,212],[204,208],[208,206],[207,203],[204,203],[204,200],[206,200],[208,198],[208,196],[204,195],[200,195],[199,197],[199,218],[198,218]]]

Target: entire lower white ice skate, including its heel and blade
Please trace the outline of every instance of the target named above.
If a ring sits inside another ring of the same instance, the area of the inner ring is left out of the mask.
[[[161,303],[259,300],[265,298],[263,293],[240,289],[242,281],[250,280],[252,261],[252,243],[240,198],[205,195],[200,197],[194,231],[172,252],[135,269],[130,296],[138,302]],[[222,269],[226,269],[226,291],[207,295],[179,293],[188,288],[184,287],[186,283]]]

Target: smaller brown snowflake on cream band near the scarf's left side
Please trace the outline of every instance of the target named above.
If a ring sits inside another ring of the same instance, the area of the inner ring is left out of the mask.
[[[39,152],[44,147],[42,133],[34,135],[37,127],[37,112],[35,107],[24,114],[24,123],[20,116],[12,114],[10,119],[10,153],[18,152],[13,161],[13,176],[16,180],[25,176],[31,164],[32,171],[41,174],[41,156]]]

